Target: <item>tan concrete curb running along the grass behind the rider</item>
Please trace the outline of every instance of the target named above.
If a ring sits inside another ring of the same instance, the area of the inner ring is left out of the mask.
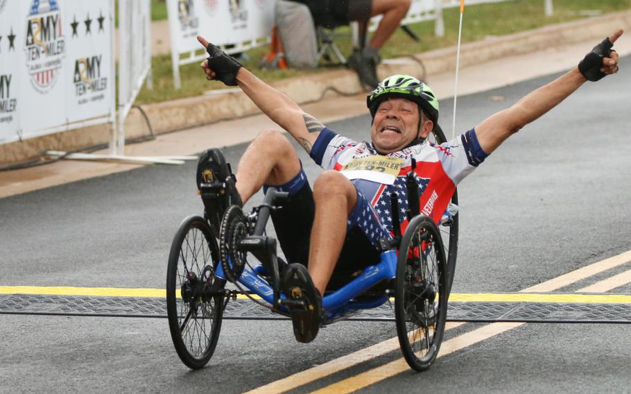
[[[463,44],[460,48],[460,67],[492,61],[494,58],[524,55],[542,49],[596,42],[612,33],[615,28],[631,27],[631,10],[615,12],[600,17],[579,19],[563,24],[544,26],[533,31],[525,31],[502,37],[489,37],[487,40]],[[589,45],[586,51],[589,50]],[[415,55],[422,61],[424,74],[431,76],[453,71],[456,67],[456,47],[437,49]],[[390,74],[422,74],[419,65],[382,64],[380,78]],[[311,103],[322,99],[327,89],[335,89],[344,94],[359,94],[363,89],[354,71],[325,71],[309,77],[295,77],[272,83],[290,96],[298,104]],[[228,91],[210,96],[196,96],[187,99],[164,101],[142,106],[156,134],[185,128],[203,126],[208,123],[245,117],[259,113],[259,109],[243,92]],[[125,122],[126,137],[148,135],[148,127],[138,110],[132,110]],[[74,151],[85,146],[110,142],[110,125],[92,126],[60,132],[44,137],[26,139],[21,142],[0,145],[3,164],[22,162],[39,156],[46,149]]]

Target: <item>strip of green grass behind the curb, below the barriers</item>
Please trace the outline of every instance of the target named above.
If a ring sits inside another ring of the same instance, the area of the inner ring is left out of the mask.
[[[152,0],[152,4],[154,3],[161,4],[164,1]],[[631,0],[554,0],[553,4],[554,15],[551,17],[544,15],[544,0],[513,0],[465,6],[463,43],[483,40],[491,35],[508,35],[549,24],[581,19],[587,17],[587,15],[593,15],[594,11],[605,14],[631,8]],[[156,13],[158,13],[157,10]],[[166,7],[164,15],[166,17]],[[399,29],[381,49],[382,57],[398,58],[404,55],[456,45],[458,42],[459,9],[445,9],[443,10],[443,16],[444,37],[436,37],[434,35],[433,21],[413,24],[410,28],[419,35],[421,42],[414,42],[406,33]],[[350,30],[349,28],[339,28],[338,31],[336,44],[338,44],[343,53],[348,54],[352,50]],[[554,37],[551,37],[551,40],[554,40]],[[589,47],[586,47],[586,51],[587,49]],[[263,80],[273,81],[293,76],[317,74],[331,69],[331,67],[320,67],[314,70],[261,69],[259,62],[266,51],[268,51],[268,47],[252,49],[245,53],[250,60],[243,61],[245,67]],[[322,66],[324,65],[325,63],[322,63]],[[137,98],[137,103],[154,103],[198,96],[210,89],[224,88],[222,83],[207,83],[202,71],[199,69],[199,65],[193,64],[180,67],[182,89],[173,89],[173,71],[171,69],[170,55],[155,56],[152,67],[154,89],[149,90],[144,87]],[[339,68],[341,66],[336,67]]]

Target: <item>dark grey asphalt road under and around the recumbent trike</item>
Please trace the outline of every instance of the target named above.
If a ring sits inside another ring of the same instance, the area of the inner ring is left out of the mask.
[[[461,97],[458,130],[553,78]],[[587,83],[462,182],[453,292],[519,291],[631,250],[629,86],[631,74],[623,71]],[[451,125],[451,102],[440,105],[442,125]],[[362,139],[369,124],[365,116],[328,126]],[[237,162],[244,148],[225,153]],[[319,170],[300,154],[313,181]],[[193,163],[3,198],[0,286],[164,289],[171,237],[185,216],[201,212]],[[631,293],[631,285],[612,292]],[[446,339],[482,326],[467,323]],[[209,366],[191,372],[173,350],[166,319],[0,315],[0,392],[237,393],[395,335],[393,323],[341,322],[303,345],[288,321],[226,320]],[[631,325],[533,323],[448,354],[427,372],[406,371],[365,391],[631,392],[630,354]],[[388,352],[295,392],[325,388],[400,357],[398,350]]]

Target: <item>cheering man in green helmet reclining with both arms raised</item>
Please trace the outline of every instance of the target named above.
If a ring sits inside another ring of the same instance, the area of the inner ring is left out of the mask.
[[[275,187],[288,192],[288,200],[272,214],[290,263],[282,273],[282,289],[288,298],[309,306],[306,311],[290,310],[290,314],[297,341],[313,341],[320,328],[322,294],[334,270],[352,272],[379,262],[382,241],[393,232],[390,196],[396,192],[399,203],[406,202],[405,175],[409,171],[417,174],[420,213],[439,223],[458,182],[505,139],[587,80],[600,80],[619,70],[619,55],[612,46],[622,33],[619,30],[605,38],[578,67],[440,145],[426,142],[438,125],[438,100],[428,85],[413,76],[390,76],[368,95],[370,142],[356,142],[336,134],[198,37],[210,55],[201,64],[207,79],[241,87],[325,169],[312,190],[293,146],[277,130],[263,131],[250,143],[236,176],[230,173],[221,151],[209,149],[200,157],[198,187],[202,182],[221,183],[227,198],[202,196],[206,217],[218,234],[228,205],[243,206],[261,187],[263,191]],[[402,227],[406,225],[404,212],[397,212]]]

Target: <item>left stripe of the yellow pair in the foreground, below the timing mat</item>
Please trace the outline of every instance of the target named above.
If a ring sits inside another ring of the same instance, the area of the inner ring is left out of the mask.
[[[465,323],[447,323],[445,331],[463,324]],[[377,345],[372,345],[368,348],[358,350],[357,352],[347,354],[346,356],[331,360],[313,368],[309,368],[308,370],[297,372],[291,376],[285,377],[284,379],[266,384],[265,386],[254,388],[254,390],[248,391],[244,394],[284,393],[285,391],[293,390],[294,388],[300,387],[304,384],[311,383],[322,377],[333,375],[341,370],[351,368],[359,363],[374,359],[375,357],[379,357],[382,354],[386,354],[397,349],[399,349],[399,338],[395,336],[387,341],[377,343]]]

